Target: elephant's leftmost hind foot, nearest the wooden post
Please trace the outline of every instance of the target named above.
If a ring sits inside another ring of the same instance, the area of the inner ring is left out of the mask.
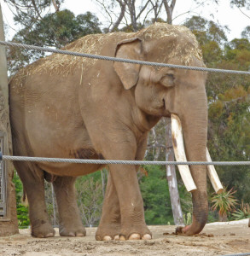
[[[32,236],[38,238],[55,236],[55,230],[49,222],[38,220],[35,224],[32,224]]]

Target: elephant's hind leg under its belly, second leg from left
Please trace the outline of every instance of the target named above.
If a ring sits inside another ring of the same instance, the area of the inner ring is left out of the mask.
[[[86,236],[75,196],[75,179],[75,177],[55,177],[53,182],[61,236]]]

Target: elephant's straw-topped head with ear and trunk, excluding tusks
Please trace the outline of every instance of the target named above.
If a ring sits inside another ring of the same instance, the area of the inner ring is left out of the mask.
[[[156,24],[120,42],[116,56],[204,67],[195,36],[183,26]],[[113,63],[126,90],[134,90],[137,107],[153,116],[176,114],[183,125],[187,160],[206,161],[206,73],[168,67]],[[175,142],[173,142],[175,143]],[[192,191],[193,224],[183,231],[199,233],[207,219],[206,166],[190,166],[197,189]]]

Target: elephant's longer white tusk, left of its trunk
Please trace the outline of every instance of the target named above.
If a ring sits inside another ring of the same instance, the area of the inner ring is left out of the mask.
[[[183,131],[180,119],[176,114],[171,115],[172,119],[172,144],[174,149],[175,158],[177,161],[186,162],[186,154],[183,143]],[[189,170],[189,166],[178,166],[179,172],[183,179],[186,189],[190,192],[196,188],[194,179]]]

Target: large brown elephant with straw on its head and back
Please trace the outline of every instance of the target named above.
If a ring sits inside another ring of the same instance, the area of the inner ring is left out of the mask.
[[[205,67],[196,38],[184,26],[155,23],[139,32],[93,34],[65,49],[139,61]],[[206,160],[206,73],[53,54],[24,67],[9,82],[13,154],[90,160],[143,160],[148,132],[162,117],[183,125],[187,160]],[[15,161],[29,202],[32,236],[55,236],[44,201],[53,183],[61,236],[85,236],[74,182],[101,164]],[[96,240],[151,239],[145,223],[137,166],[109,165]],[[190,166],[193,222],[208,214],[206,166]],[[156,185],[156,184],[155,184]]]

